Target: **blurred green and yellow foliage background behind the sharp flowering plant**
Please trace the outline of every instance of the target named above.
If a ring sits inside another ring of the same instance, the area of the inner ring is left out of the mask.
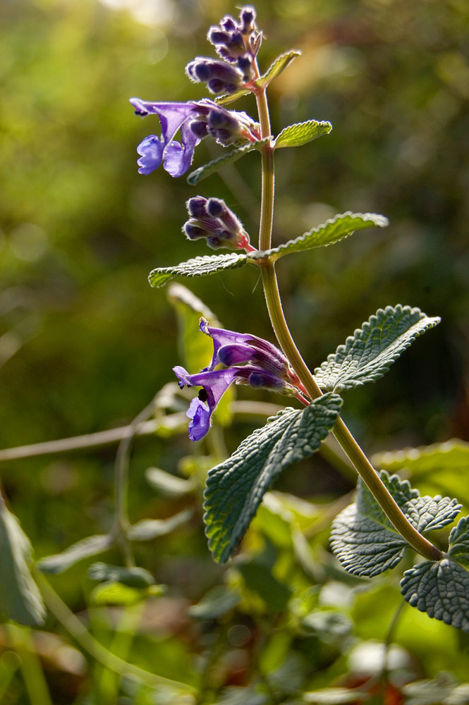
[[[207,254],[203,243],[181,235],[188,197],[223,197],[256,240],[259,155],[228,166],[221,178],[210,176],[197,191],[162,170],[140,176],[135,146],[157,123],[140,121],[128,104],[133,95],[202,97],[183,66],[209,53],[207,27],[233,13],[233,4],[123,5],[5,0],[0,6],[3,447],[127,423],[173,381],[171,367],[183,362],[176,316],[166,295],[148,286],[147,274]],[[468,441],[469,6],[261,0],[256,7],[267,37],[263,70],[289,48],[303,52],[272,83],[274,133],[311,118],[334,125],[301,152],[276,155],[274,245],[336,212],[380,212],[390,220],[383,231],[279,263],[294,337],[315,367],[379,307],[402,303],[441,316],[432,337],[416,343],[386,379],[346,396],[345,416],[367,450],[451,436]],[[253,114],[252,99],[238,105]],[[194,167],[220,154],[203,143]],[[272,339],[250,267],[191,281],[190,288],[227,328],[243,321],[243,330]],[[238,396],[245,398],[242,391]],[[256,426],[244,419],[229,429],[229,450]],[[166,584],[166,594],[121,610],[103,604],[116,599],[108,586],[92,605],[96,584],[85,568],[101,558],[51,579],[102,644],[197,687],[203,703],[293,702],[298,689],[300,701],[324,702],[327,694],[321,700],[317,691],[334,686],[341,692],[331,697],[365,688],[390,705],[403,701],[406,682],[441,681],[445,671],[450,692],[467,679],[467,637],[408,606],[383,662],[402,602],[398,575],[372,583],[344,577],[327,552],[331,519],[349,503],[341,496],[354,479],[325,454],[292,468],[277,485],[281,491],[266,496],[240,556],[227,570],[214,565],[200,489],[223,455],[217,430],[208,460],[188,457],[199,451],[185,430],[135,442],[133,522],[193,510],[173,532],[135,542],[138,565],[154,576],[151,587]],[[2,463],[8,505],[37,558],[109,531],[113,465],[114,448]],[[150,466],[190,477],[188,492],[165,493],[161,474],[160,489],[149,490]],[[432,494],[451,492],[444,473],[431,481]],[[416,474],[419,489],[427,491],[428,482]],[[113,548],[103,560],[118,565],[121,557]],[[51,616],[32,634],[2,627],[0,651],[0,699],[8,704],[48,705],[47,689],[54,705],[170,701],[164,689],[155,694],[131,680],[119,685],[108,668],[90,666]],[[386,669],[389,677],[380,678]],[[419,696],[414,685],[413,702],[425,701],[427,686]],[[192,705],[191,697],[181,703]]]

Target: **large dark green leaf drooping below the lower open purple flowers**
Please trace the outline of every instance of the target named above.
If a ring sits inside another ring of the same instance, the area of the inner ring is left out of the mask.
[[[205,523],[214,559],[224,563],[248,529],[262,496],[291,462],[315,453],[334,426],[341,398],[327,394],[304,410],[286,408],[209,470]]]

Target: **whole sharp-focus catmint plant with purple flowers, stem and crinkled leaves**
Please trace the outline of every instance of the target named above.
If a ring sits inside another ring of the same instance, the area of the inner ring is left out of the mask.
[[[186,237],[205,239],[212,248],[245,252],[197,256],[176,266],[159,267],[150,273],[150,283],[159,287],[174,276],[207,276],[246,265],[256,267],[279,348],[250,333],[217,329],[201,319],[202,333],[214,344],[212,361],[201,372],[173,368],[181,388],[197,390],[187,412],[189,437],[198,442],[211,432],[212,413],[231,384],[267,388],[301,403],[300,408],[288,406],[270,418],[230,458],[209,471],[205,489],[209,548],[215,560],[228,560],[279,472],[315,453],[327,435],[333,434],[359,475],[355,501],[332,525],[331,548],[343,568],[353,575],[372,577],[397,565],[409,549],[418,559],[403,575],[404,599],[430,617],[469,631],[469,517],[451,530],[449,546],[441,550],[432,542],[432,532],[449,526],[461,504],[448,497],[422,497],[407,481],[389,476],[385,470],[378,472],[340,415],[344,391],[379,379],[415,338],[439,323],[439,318],[408,305],[385,306],[314,371],[310,369],[284,316],[276,261],[338,243],[355,231],[382,228],[388,222],[379,214],[346,212],[272,248],[274,153],[327,135],[331,124],[311,119],[288,125],[277,135],[272,132],[267,88],[300,52],[282,54],[261,73],[257,59],[262,31],[257,29],[255,8],[241,8],[239,18],[225,16],[219,25],[210,27],[207,37],[218,58],[197,57],[185,72],[190,80],[205,83],[212,94],[221,94],[215,101],[207,97],[187,103],[131,99],[138,115],[157,117],[161,126],[160,137],[150,135],[138,147],[139,171],[149,174],[163,163],[171,176],[181,176],[188,171],[194,149],[204,137],[231,147],[226,155],[189,174],[188,183],[196,185],[246,152],[257,150],[262,161],[259,240],[257,247],[251,244],[236,214],[216,195],[209,199],[195,195],[187,203]],[[225,107],[245,94],[255,99],[255,118]]]

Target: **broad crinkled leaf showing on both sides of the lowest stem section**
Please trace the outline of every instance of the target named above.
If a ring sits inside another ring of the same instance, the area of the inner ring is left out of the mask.
[[[456,499],[421,497],[407,480],[386,470],[379,477],[410,523],[423,533],[451,524],[461,510]],[[339,562],[353,575],[373,577],[394,568],[408,548],[361,479],[355,502],[332,522],[331,547]]]

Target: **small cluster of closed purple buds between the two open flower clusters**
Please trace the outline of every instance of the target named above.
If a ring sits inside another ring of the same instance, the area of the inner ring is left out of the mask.
[[[218,247],[254,250],[243,223],[220,198],[194,196],[185,205],[190,218],[183,225],[183,233],[189,240],[207,238],[207,245],[213,250]]]

